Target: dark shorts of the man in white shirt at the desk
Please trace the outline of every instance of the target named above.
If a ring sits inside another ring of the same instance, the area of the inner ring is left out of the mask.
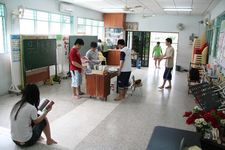
[[[130,79],[130,72],[121,72],[118,76],[118,88],[124,89],[130,86],[129,79]]]

